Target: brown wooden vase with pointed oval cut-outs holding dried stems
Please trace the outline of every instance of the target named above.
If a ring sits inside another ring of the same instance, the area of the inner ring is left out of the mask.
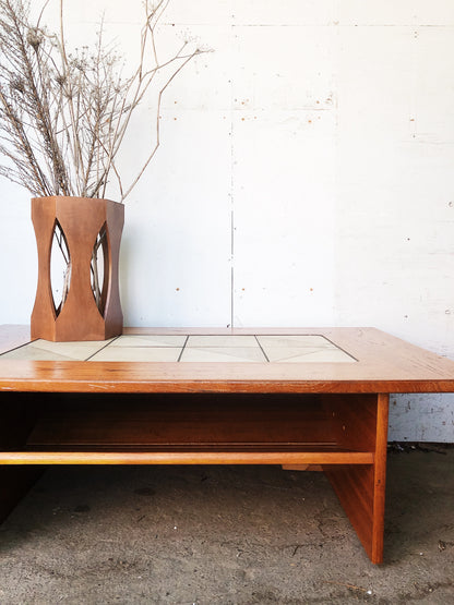
[[[124,206],[109,199],[49,196],[32,199],[32,221],[38,246],[38,285],[32,313],[32,338],[53,341],[104,340],[122,331],[118,266]],[[56,228],[71,261],[68,295],[56,306],[50,259]],[[103,239],[104,278],[97,304],[91,263],[98,234]]]

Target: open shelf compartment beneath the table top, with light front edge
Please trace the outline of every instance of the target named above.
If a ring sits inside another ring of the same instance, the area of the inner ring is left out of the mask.
[[[375,406],[369,396],[31,397],[22,410],[11,401],[16,436],[0,439],[0,464],[372,465]]]

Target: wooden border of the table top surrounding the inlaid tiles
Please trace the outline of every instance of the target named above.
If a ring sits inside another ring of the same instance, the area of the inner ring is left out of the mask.
[[[132,330],[126,330],[131,334]],[[133,330],[180,334],[181,330]],[[210,330],[182,330],[205,334]],[[222,334],[225,330],[216,330]],[[0,390],[37,392],[454,392],[454,362],[374,328],[236,329],[321,335],[357,363],[45,362],[0,358]]]

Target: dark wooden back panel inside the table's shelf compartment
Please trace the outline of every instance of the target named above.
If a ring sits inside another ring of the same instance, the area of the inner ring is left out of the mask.
[[[32,397],[32,396],[29,396]],[[187,444],[336,445],[316,396],[49,395],[29,447]]]

